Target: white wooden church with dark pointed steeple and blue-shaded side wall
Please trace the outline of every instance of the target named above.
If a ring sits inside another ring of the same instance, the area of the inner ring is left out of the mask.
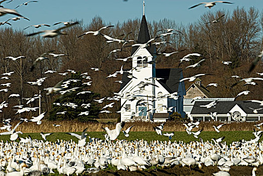
[[[147,21],[143,15],[138,43],[149,41]],[[121,121],[142,119],[153,122],[165,122],[169,115],[178,112],[184,117],[183,97],[186,95],[180,68],[156,68],[156,48],[134,46],[131,51],[132,71],[122,74],[119,94]],[[151,62],[153,61],[153,62]],[[132,75],[132,76],[131,76]],[[140,82],[150,83],[140,86]]]

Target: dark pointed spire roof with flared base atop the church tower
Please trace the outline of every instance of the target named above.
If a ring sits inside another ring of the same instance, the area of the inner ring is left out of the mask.
[[[149,30],[148,30],[148,26],[147,26],[147,21],[146,21],[146,17],[145,15],[143,15],[142,18],[142,22],[141,22],[141,27],[140,27],[140,31],[139,31],[139,36],[138,36],[138,43],[140,44],[144,44],[146,42],[148,42],[150,40],[150,34],[149,34]],[[133,55],[135,53],[135,51],[137,51],[137,49],[139,48],[139,46],[134,46],[131,49],[131,55]],[[146,48],[152,55],[156,54],[156,48],[155,45],[150,45],[149,47]]]

